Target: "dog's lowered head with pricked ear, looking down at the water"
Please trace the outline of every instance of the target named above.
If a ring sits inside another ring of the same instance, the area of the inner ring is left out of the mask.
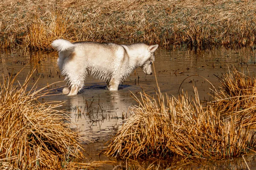
[[[144,64],[141,66],[143,72],[147,75],[152,74],[152,69],[151,65],[154,62],[154,52],[157,50],[158,44],[157,45],[150,45],[148,47],[148,57],[147,60],[144,62]]]

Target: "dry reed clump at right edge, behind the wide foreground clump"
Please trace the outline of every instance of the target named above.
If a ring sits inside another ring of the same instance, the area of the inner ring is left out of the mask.
[[[256,81],[247,69],[232,66],[217,75],[220,82],[219,92],[213,91],[213,105],[223,116],[244,126],[256,127]]]

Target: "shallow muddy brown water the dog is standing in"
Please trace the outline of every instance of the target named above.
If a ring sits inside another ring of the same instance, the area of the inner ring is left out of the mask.
[[[73,125],[73,130],[89,141],[84,141],[86,150],[85,156],[87,161],[93,160],[109,160],[104,155],[97,155],[104,149],[104,143],[107,142],[111,135],[122,126],[124,119],[128,116],[128,108],[136,105],[131,97],[131,93],[139,96],[138,92],[143,90],[154,95],[154,88],[158,85],[162,92],[169,95],[177,96],[178,89],[180,91],[188,91],[193,94],[193,86],[198,88],[201,99],[209,100],[207,92],[209,88],[215,85],[217,88],[218,79],[215,75],[223,73],[230,65],[236,65],[239,68],[248,70],[252,76],[256,71],[256,55],[250,50],[244,49],[239,51],[231,51],[225,49],[216,49],[212,51],[204,51],[193,53],[191,51],[165,51],[158,50],[154,62],[155,73],[145,76],[140,68],[128,77],[123,85],[119,87],[119,91],[110,92],[106,90],[106,84],[91,77],[88,77],[84,89],[76,96],[66,96],[61,94],[62,87],[65,85],[64,77],[60,75],[56,60],[58,56],[53,53],[21,53],[20,51],[12,51],[12,53],[0,54],[0,71],[4,76],[14,73],[24,68],[18,76],[18,80],[23,82],[26,75],[33,67],[36,67],[31,82],[38,81],[38,88],[49,85],[55,88],[55,96],[49,96],[42,101],[61,101],[64,104],[59,109],[64,109],[69,113]],[[212,83],[212,85],[209,82]],[[51,85],[52,84],[52,85]],[[255,157],[247,157],[250,166],[255,164]],[[127,163],[127,162],[126,162]],[[126,164],[125,163],[125,164]],[[148,167],[150,163],[133,164],[130,168],[137,169],[143,166]],[[156,167],[159,162],[156,162]],[[165,163],[165,165],[168,163]],[[228,164],[228,165],[227,165]],[[164,165],[163,165],[164,166]],[[172,165],[168,165],[172,167]],[[193,165],[189,169],[245,169],[243,159],[234,159],[230,161],[209,162],[206,165]],[[174,166],[176,167],[176,166]],[[227,168],[225,168],[227,167]],[[255,167],[255,166],[254,166]],[[103,169],[113,169],[113,166],[106,166]]]

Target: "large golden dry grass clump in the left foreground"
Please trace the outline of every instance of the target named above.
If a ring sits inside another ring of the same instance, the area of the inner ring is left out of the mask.
[[[81,139],[70,130],[67,115],[56,109],[61,103],[40,103],[49,90],[29,84],[33,74],[23,84],[17,75],[0,83],[0,168],[90,169],[110,163],[82,163]]]

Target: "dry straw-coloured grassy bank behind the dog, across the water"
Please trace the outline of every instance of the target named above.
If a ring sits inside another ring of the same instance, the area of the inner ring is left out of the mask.
[[[57,38],[147,44],[167,49],[255,47],[253,0],[6,0],[2,49],[52,50]]]

